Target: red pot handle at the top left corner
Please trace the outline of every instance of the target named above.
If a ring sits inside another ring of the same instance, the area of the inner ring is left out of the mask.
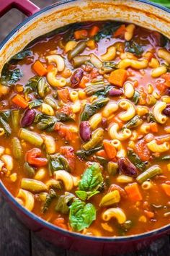
[[[29,0],[0,0],[0,17],[3,16],[12,8],[17,8],[23,14],[31,16],[35,12],[40,11],[40,8],[37,7],[32,1]]]

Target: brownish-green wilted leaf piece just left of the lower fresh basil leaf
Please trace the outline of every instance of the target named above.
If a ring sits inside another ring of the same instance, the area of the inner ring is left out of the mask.
[[[58,197],[57,203],[55,205],[55,211],[66,214],[69,212],[69,206],[71,202],[75,199],[75,195],[65,192],[65,195]]]

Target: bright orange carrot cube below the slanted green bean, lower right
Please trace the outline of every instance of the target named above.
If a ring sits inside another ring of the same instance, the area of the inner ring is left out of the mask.
[[[136,202],[143,199],[137,183],[128,184],[128,186],[125,187],[125,191],[132,201]]]

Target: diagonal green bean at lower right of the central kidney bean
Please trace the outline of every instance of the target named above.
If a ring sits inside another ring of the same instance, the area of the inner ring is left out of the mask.
[[[104,136],[104,130],[102,128],[98,128],[91,136],[91,140],[86,142],[82,147],[84,150],[90,150],[92,148],[95,148],[97,145],[99,145],[100,142],[102,142]]]

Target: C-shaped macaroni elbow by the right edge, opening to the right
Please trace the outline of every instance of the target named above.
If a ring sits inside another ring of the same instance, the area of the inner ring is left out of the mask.
[[[166,103],[159,101],[153,108],[153,116],[155,117],[156,121],[160,124],[164,124],[167,120],[167,117],[162,114],[162,111],[166,108]]]

